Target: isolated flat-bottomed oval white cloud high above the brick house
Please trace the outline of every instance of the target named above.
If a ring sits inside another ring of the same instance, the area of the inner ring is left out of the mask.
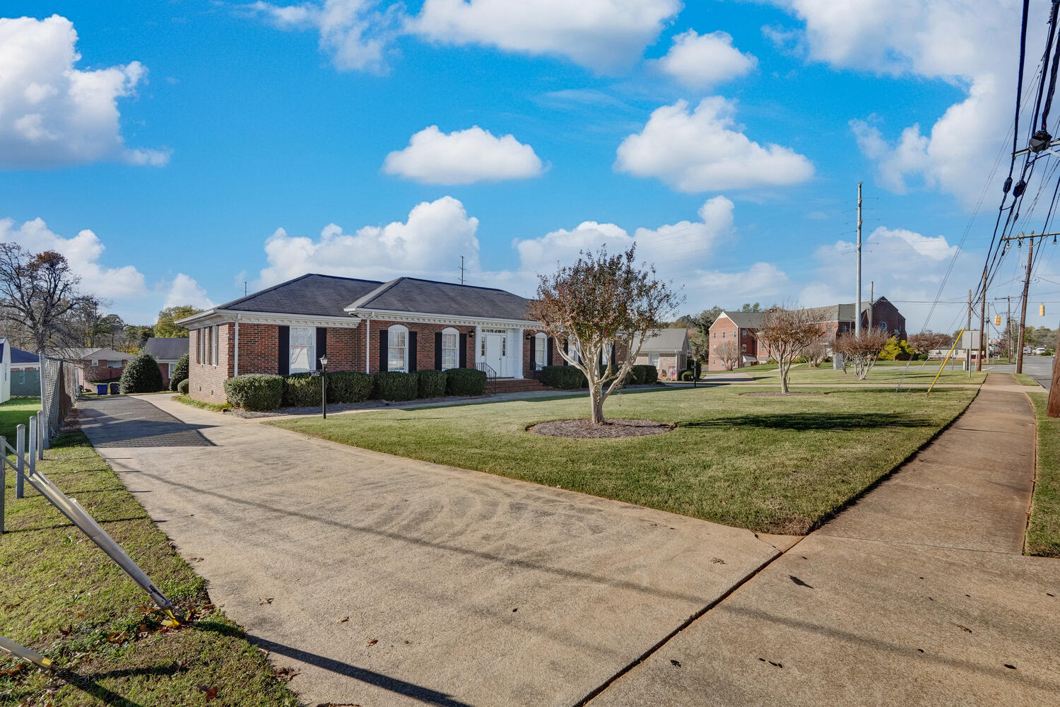
[[[542,169],[533,147],[511,135],[494,137],[477,125],[453,132],[442,132],[437,125],[426,127],[383,163],[387,174],[428,184],[525,179],[536,177]]]

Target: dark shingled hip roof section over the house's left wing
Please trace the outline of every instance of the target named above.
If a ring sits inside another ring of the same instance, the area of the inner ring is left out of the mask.
[[[354,280],[331,275],[303,275],[252,295],[219,304],[216,310],[269,312],[326,317],[348,317],[343,308],[358,297],[382,285],[374,280]]]

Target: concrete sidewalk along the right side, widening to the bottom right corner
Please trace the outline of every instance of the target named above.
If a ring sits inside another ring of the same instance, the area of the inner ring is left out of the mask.
[[[589,704],[1055,707],[1060,561],[1020,554],[1035,418],[1006,387],[991,375],[935,442]]]

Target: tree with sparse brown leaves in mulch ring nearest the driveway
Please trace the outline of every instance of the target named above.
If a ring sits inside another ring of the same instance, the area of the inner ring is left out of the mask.
[[[573,265],[537,276],[536,299],[528,308],[549,336],[567,340],[560,355],[588,379],[594,425],[606,424],[604,401],[622,387],[648,332],[684,301],[635,254],[636,245],[614,255],[605,248],[582,251]],[[612,363],[613,347],[626,353],[620,366]]]

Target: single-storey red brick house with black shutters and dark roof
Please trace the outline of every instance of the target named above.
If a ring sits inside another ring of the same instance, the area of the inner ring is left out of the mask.
[[[189,330],[189,393],[224,403],[225,379],[245,373],[477,368],[534,389],[556,342],[527,319],[530,300],[491,287],[398,278],[304,275],[181,319]],[[565,342],[561,346],[566,346]]]

